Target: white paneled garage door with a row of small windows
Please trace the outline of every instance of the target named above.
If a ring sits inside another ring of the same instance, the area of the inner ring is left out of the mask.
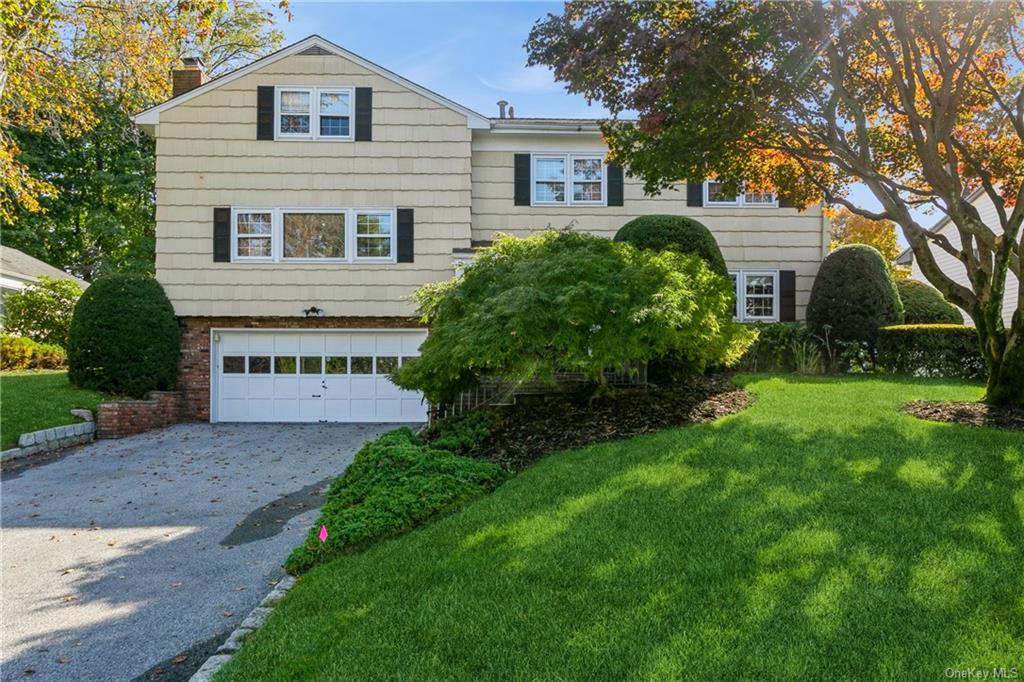
[[[425,331],[219,331],[215,422],[422,422],[418,392],[388,378],[420,354]]]

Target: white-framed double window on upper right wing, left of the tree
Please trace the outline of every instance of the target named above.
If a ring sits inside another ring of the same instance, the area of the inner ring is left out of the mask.
[[[535,154],[534,206],[604,206],[606,180],[600,154]]]

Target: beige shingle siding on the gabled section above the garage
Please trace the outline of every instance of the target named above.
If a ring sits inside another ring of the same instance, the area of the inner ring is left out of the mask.
[[[372,142],[256,140],[259,85],[370,86]],[[340,56],[293,55],[161,114],[157,276],[179,315],[406,315],[470,240],[466,118]],[[409,207],[413,263],[215,263],[213,208]]]

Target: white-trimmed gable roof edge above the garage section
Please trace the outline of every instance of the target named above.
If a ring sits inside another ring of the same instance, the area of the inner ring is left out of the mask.
[[[240,67],[234,71],[224,74],[223,76],[218,76],[217,78],[214,78],[211,81],[207,81],[198,88],[195,88],[187,92],[182,92],[177,97],[171,97],[162,104],[157,104],[156,106],[151,106],[150,109],[143,112],[139,112],[138,114],[132,117],[132,120],[139,126],[143,127],[154,126],[160,123],[161,112],[167,111],[172,106],[177,106],[178,104],[188,101],[193,97],[197,97],[203,94],[204,92],[209,92],[210,90],[213,90],[215,88],[220,87],[221,85],[224,85],[225,83],[230,83],[236,79],[242,78],[243,76],[251,74],[254,71],[258,71],[263,67],[269,66],[274,61],[279,61],[281,59],[284,59],[285,57],[292,56],[293,54],[305,52],[306,50],[310,50],[310,53],[313,54],[336,54],[340,57],[349,59],[350,61],[359,65],[364,69],[371,71],[377,74],[378,76],[381,76],[382,78],[386,78],[394,83],[397,83],[398,85],[401,85],[402,87],[406,87],[412,90],[413,92],[416,92],[417,94],[420,94],[426,97],[427,99],[430,99],[431,101],[440,104],[441,106],[445,106],[454,112],[462,114],[463,116],[466,117],[466,124],[470,128],[483,128],[483,129],[490,128],[490,120],[487,119],[485,116],[478,114],[467,106],[463,106],[462,104],[455,102],[449,99],[447,97],[439,95],[433,90],[429,90],[423,87],[422,85],[417,85],[416,83],[402,78],[401,76],[395,74],[394,72],[388,71],[384,67],[376,65],[373,61],[370,61],[369,59],[365,59],[360,57],[358,54],[355,54],[354,52],[349,52],[340,45],[335,45],[330,40],[322,38],[321,36],[317,35],[312,35],[309,36],[308,38],[300,40],[297,43],[292,43],[291,45],[283,47],[276,52],[271,52],[270,54],[267,54],[264,57],[260,57],[259,59],[256,59],[255,61],[252,61],[246,65],[245,67]]]

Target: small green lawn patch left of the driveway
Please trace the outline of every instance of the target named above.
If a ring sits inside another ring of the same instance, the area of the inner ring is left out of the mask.
[[[73,408],[95,410],[102,393],[75,388],[67,372],[0,374],[0,447],[17,444],[17,436],[51,426],[74,424]]]

